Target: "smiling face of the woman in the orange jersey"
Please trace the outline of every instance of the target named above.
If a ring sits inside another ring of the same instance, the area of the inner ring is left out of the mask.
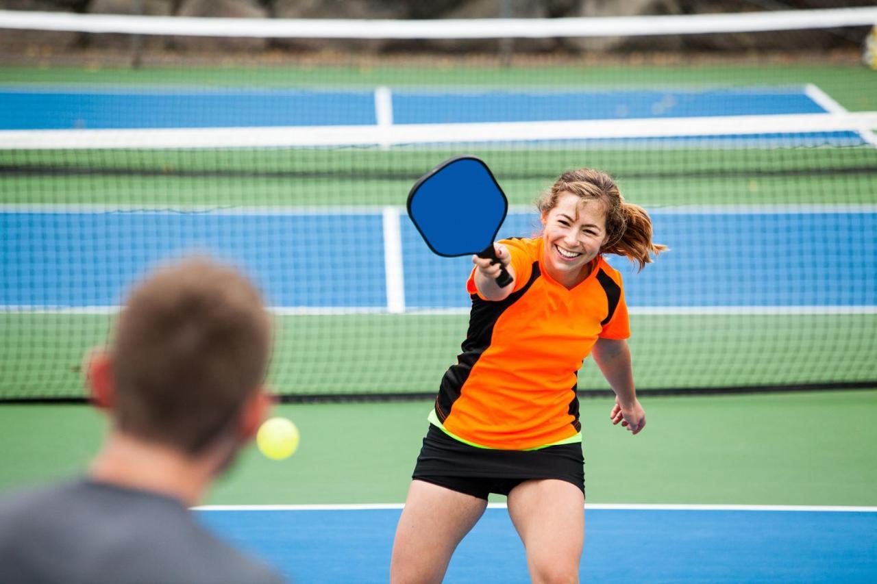
[[[553,209],[542,214],[541,221],[545,268],[561,283],[577,283],[582,268],[594,260],[606,242],[602,203],[582,201],[572,193],[563,192]]]

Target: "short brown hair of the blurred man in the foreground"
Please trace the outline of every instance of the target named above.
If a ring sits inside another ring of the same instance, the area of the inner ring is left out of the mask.
[[[265,376],[271,324],[237,271],[185,260],[133,289],[111,347],[118,429],[196,454]]]

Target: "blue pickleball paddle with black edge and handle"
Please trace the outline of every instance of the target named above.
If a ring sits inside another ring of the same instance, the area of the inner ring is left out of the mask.
[[[493,173],[475,156],[456,156],[424,174],[408,193],[408,216],[433,253],[476,254],[499,262],[494,240],[509,210]],[[511,276],[503,266],[496,284]]]

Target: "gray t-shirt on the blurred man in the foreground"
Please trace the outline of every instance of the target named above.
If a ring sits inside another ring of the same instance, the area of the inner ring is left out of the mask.
[[[167,496],[79,480],[0,499],[0,582],[282,581]]]

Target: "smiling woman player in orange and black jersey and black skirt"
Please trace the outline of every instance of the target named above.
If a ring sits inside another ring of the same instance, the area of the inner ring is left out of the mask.
[[[588,353],[616,393],[610,418],[637,434],[645,412],[631,373],[621,276],[602,258],[638,262],[667,249],[606,174],[567,172],[538,201],[541,237],[507,239],[499,265],[473,257],[467,338],[430,412],[390,580],[440,582],[487,507],[508,496],[533,582],[575,582],[584,540],[584,460],[576,374]]]

